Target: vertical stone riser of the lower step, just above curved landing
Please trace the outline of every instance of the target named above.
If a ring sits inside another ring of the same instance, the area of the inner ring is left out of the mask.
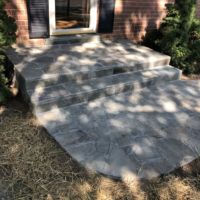
[[[123,92],[128,92],[128,91],[136,92],[136,91],[141,90],[144,87],[150,87],[150,86],[158,85],[158,84],[165,83],[168,81],[177,80],[180,78],[180,75],[181,75],[180,72],[177,71],[176,73],[172,75],[163,74],[159,77],[146,79],[141,82],[128,82],[124,84],[113,85],[106,88],[93,90],[90,92],[79,93],[73,96],[69,96],[67,98],[63,97],[56,101],[53,101],[53,99],[51,99],[49,100],[49,102],[45,101],[43,103],[39,103],[39,105],[38,103],[36,103],[35,106],[37,107],[37,111],[40,110],[40,112],[45,112],[45,111],[48,111],[49,108],[52,108],[54,105],[56,105],[57,107],[66,107],[73,104],[89,102],[101,97],[120,94]],[[32,102],[33,102],[33,107],[34,107],[34,101],[32,100]]]

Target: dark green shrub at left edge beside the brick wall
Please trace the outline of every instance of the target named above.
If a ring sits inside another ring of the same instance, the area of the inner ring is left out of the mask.
[[[12,74],[9,71],[13,70],[8,69],[5,49],[15,42],[17,30],[15,20],[4,10],[4,3],[5,0],[0,0],[0,101],[8,94],[9,75]]]

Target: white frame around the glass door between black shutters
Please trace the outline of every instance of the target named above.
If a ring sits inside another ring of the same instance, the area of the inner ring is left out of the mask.
[[[56,29],[55,1],[49,0],[49,28],[50,35],[67,35],[79,33],[95,33],[98,20],[98,0],[90,0],[90,24],[89,28]]]

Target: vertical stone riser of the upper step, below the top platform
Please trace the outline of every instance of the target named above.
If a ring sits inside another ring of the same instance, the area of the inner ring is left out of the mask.
[[[34,89],[38,86],[48,87],[55,84],[75,82],[82,83],[85,80],[100,78],[104,76],[110,76],[115,74],[121,74],[126,72],[137,72],[141,70],[149,70],[156,68],[157,66],[168,65],[170,57],[162,55],[155,59],[133,62],[133,63],[116,63],[110,61],[107,66],[101,64],[94,66],[57,66],[58,70],[52,70],[52,72],[46,71],[44,75],[38,76],[26,76],[26,90]],[[62,65],[62,63],[61,63]],[[37,69],[35,69],[37,70]]]

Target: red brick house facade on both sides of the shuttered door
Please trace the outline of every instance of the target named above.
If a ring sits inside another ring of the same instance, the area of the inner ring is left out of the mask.
[[[17,43],[43,45],[44,38],[30,39],[28,9],[26,0],[11,0],[6,10],[16,19],[18,25]],[[49,1],[51,2],[51,1]],[[126,37],[140,41],[148,29],[158,28],[165,16],[165,4],[174,0],[116,0],[112,33],[101,34],[106,37]],[[198,0],[200,16],[200,0]]]

